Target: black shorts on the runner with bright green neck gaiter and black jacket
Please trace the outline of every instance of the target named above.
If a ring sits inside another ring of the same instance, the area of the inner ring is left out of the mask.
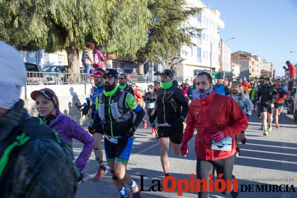
[[[184,125],[173,128],[172,126],[158,126],[158,137],[169,137],[174,144],[181,144],[184,134]]]

